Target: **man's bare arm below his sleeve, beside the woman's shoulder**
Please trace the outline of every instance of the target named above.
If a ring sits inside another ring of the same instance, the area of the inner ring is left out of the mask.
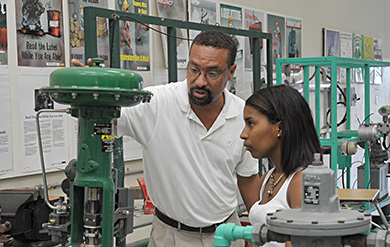
[[[237,184],[240,189],[242,199],[246,209],[250,210],[252,205],[260,200],[259,196],[259,175],[255,174],[250,177],[242,177],[237,174]]]

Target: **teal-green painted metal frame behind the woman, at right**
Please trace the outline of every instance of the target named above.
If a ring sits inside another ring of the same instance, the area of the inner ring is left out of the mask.
[[[281,58],[276,60],[276,83],[282,84],[282,65],[294,64],[303,67],[304,96],[309,98],[309,69],[315,67],[315,123],[320,136],[320,67],[331,68],[331,109],[337,109],[337,68],[346,69],[346,128],[347,131],[337,132],[337,128],[331,129],[331,137],[320,138],[322,146],[330,146],[331,153],[338,153],[337,148],[342,141],[357,142],[357,130],[351,130],[351,69],[361,68],[364,70],[364,115],[367,116],[365,123],[370,122],[370,68],[389,67],[390,62],[374,61],[368,59],[355,59],[344,57],[305,57],[305,58]],[[337,111],[331,111],[331,125],[337,126]],[[368,153],[367,144],[365,151]],[[346,158],[346,163],[351,165],[351,157]],[[338,156],[331,156],[331,168],[337,174]],[[370,181],[370,158],[365,156],[365,185],[369,188]],[[347,172],[347,187],[350,188],[350,173]]]

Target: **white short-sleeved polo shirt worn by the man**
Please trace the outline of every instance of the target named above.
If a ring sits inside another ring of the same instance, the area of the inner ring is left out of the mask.
[[[193,227],[225,220],[237,207],[236,173],[258,173],[240,139],[244,101],[225,89],[225,106],[207,131],[190,107],[187,81],[145,90],[153,92],[151,102],[122,108],[117,134],[143,146],[152,202]]]

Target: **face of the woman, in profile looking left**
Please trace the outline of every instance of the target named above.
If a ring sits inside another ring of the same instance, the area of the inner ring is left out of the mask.
[[[244,146],[253,158],[280,157],[281,135],[280,123],[272,124],[268,118],[251,106],[244,108],[245,127],[240,135]],[[278,137],[278,135],[280,137]]]

